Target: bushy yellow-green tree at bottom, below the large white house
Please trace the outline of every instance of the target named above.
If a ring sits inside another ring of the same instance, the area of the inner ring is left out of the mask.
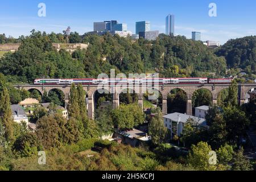
[[[200,171],[212,171],[216,166],[209,164],[209,153],[212,148],[207,142],[199,142],[196,146],[192,145],[188,155],[188,163]]]

